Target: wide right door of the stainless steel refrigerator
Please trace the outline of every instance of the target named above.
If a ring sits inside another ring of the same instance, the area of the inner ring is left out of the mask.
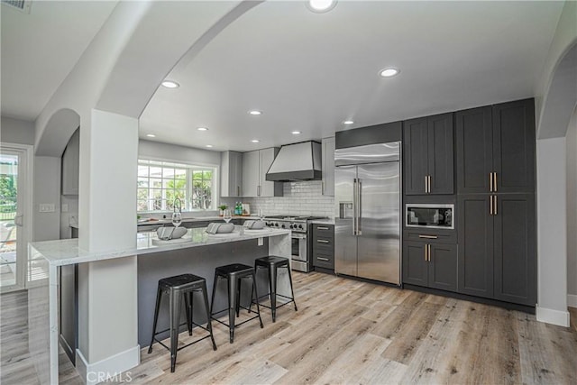
[[[400,283],[398,161],[357,166],[358,277]]]

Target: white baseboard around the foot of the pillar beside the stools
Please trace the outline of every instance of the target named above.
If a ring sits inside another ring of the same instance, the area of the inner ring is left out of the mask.
[[[76,370],[87,385],[96,385],[105,380],[130,382],[132,377],[128,370],[141,363],[141,346],[136,345],[131,349],[94,363],[88,363],[79,349],[76,350],[76,357]],[[123,371],[128,372],[121,375]]]

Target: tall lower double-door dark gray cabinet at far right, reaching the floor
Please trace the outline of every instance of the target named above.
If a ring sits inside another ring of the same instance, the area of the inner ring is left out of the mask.
[[[536,304],[534,194],[471,194],[458,200],[458,291]]]

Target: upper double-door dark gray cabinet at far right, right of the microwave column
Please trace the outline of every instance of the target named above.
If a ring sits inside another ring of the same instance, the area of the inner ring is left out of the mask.
[[[533,99],[455,113],[457,192],[535,191]]]

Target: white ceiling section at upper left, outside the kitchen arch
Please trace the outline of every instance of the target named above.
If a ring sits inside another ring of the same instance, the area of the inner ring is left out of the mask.
[[[86,50],[116,1],[32,1],[0,6],[2,115],[33,121]]]

